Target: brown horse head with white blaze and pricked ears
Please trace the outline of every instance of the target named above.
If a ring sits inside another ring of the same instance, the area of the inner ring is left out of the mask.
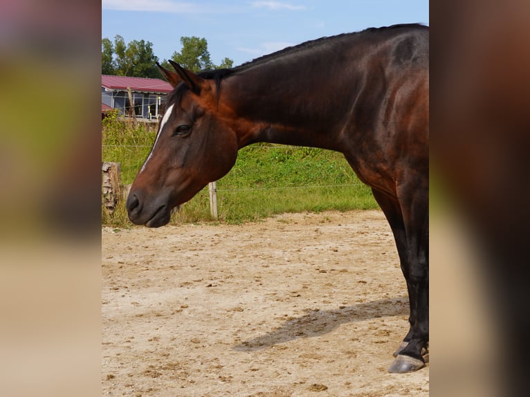
[[[175,89],[127,198],[129,219],[151,228],[167,224],[174,207],[228,173],[237,158],[237,136],[219,107],[219,87],[171,63],[176,73],[158,67]]]

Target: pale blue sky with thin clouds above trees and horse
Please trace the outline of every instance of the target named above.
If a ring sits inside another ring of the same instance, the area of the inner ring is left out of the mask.
[[[304,41],[392,24],[429,24],[428,0],[102,0],[102,38],[145,40],[163,61],[181,37],[233,66]]]

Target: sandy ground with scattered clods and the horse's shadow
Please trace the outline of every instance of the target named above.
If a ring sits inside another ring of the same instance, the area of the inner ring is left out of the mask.
[[[102,229],[102,394],[428,396],[382,212]]]

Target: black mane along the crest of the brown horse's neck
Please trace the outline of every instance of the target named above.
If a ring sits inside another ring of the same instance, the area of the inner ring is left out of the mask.
[[[299,53],[300,51],[304,51],[309,48],[314,48],[317,46],[325,45],[327,42],[341,38],[341,37],[349,37],[349,36],[363,37],[365,35],[373,35],[374,33],[382,33],[385,31],[396,30],[399,28],[400,29],[401,28],[409,28],[409,29],[426,28],[428,29],[428,26],[425,26],[423,24],[396,24],[392,26],[383,26],[381,28],[367,28],[367,29],[360,30],[354,33],[341,33],[340,35],[320,37],[320,39],[304,41],[302,44],[286,47],[286,48],[283,48],[282,50],[276,51],[275,53],[263,55],[262,57],[257,57],[253,59],[252,61],[245,62],[244,64],[235,66],[233,68],[221,68],[221,69],[214,69],[211,71],[202,71],[202,72],[197,73],[197,75],[199,75],[205,80],[215,81],[217,100],[219,100],[219,95],[220,95],[219,91],[221,87],[221,81],[225,77],[228,77],[230,75],[236,75],[237,73],[241,73],[242,71],[246,71],[255,66],[266,64],[268,62],[273,62],[276,59],[285,57],[287,55],[293,55],[295,53]],[[185,91],[188,91],[188,86],[186,86],[185,84],[179,84],[170,94],[167,95],[165,102],[166,103],[177,103],[180,106],[181,98]]]

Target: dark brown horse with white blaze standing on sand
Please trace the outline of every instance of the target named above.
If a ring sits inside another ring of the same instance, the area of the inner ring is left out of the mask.
[[[391,372],[425,365],[428,347],[429,30],[367,29],[286,48],[236,68],[161,68],[175,87],[127,199],[156,228],[255,142],[340,151],[390,223],[410,300]]]

